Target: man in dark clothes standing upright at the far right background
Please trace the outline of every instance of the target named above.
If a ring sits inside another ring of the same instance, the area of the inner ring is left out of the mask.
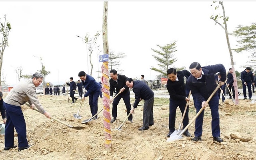
[[[246,86],[248,88],[249,99],[252,99],[252,85],[254,85],[254,78],[252,75],[251,67],[246,67],[246,69],[241,72],[241,80],[243,85],[244,99],[247,99]]]

